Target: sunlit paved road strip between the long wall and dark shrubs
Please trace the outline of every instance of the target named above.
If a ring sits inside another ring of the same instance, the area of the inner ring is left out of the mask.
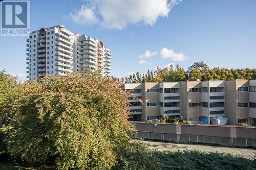
[[[252,157],[256,158],[256,150],[250,148],[237,148],[237,147],[213,147],[210,145],[201,145],[201,144],[180,144],[180,143],[167,143],[167,142],[157,142],[157,141],[145,141],[144,143],[152,149],[157,149],[160,151],[164,150],[199,150],[205,152],[219,152],[219,153],[228,153],[236,156],[243,156],[247,159]]]

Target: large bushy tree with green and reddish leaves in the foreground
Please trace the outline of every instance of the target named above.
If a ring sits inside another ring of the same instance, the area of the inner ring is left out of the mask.
[[[52,157],[58,169],[110,169],[130,145],[124,109],[130,94],[113,79],[76,73],[16,88],[11,120],[2,128],[12,158]]]

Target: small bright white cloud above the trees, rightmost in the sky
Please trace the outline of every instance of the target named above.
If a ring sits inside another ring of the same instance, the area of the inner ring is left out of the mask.
[[[160,55],[163,59],[170,58],[172,61],[184,61],[188,58],[183,53],[175,53],[174,50],[164,47],[160,51]]]

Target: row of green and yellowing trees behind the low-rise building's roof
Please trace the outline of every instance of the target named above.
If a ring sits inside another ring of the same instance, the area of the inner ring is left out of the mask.
[[[173,65],[169,68],[159,68],[156,70],[147,70],[146,74],[136,74],[122,77],[121,83],[142,83],[142,82],[179,82],[183,80],[234,80],[234,79],[256,79],[255,68],[209,68],[204,62],[195,62],[185,71],[179,65],[176,69]]]

